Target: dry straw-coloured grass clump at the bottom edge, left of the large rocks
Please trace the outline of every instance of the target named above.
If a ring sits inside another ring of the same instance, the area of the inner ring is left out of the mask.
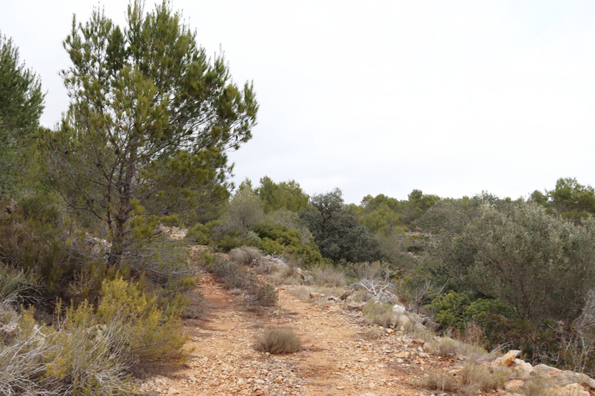
[[[477,395],[480,392],[502,388],[512,376],[509,369],[487,367],[468,363],[459,375],[430,373],[417,382],[422,388],[440,392],[456,392],[461,395]]]

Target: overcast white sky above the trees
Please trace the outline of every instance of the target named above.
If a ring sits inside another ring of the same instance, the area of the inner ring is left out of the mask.
[[[58,71],[73,12],[96,1],[5,1],[0,31],[68,106]],[[127,1],[104,1],[124,23]],[[153,3],[148,1],[147,7]],[[260,103],[235,179],[295,179],[406,199],[482,190],[513,198],[560,177],[595,184],[595,2],[173,0],[199,42],[223,47]]]

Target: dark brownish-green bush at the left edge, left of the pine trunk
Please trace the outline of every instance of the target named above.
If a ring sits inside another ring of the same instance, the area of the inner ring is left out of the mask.
[[[51,197],[26,197],[0,216],[0,261],[35,278],[46,300],[95,302],[106,266],[85,238]]]

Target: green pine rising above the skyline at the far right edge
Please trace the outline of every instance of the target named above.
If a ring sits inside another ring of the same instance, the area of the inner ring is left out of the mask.
[[[560,178],[556,188],[547,192],[550,208],[562,217],[580,221],[595,214],[595,189],[582,185],[575,178]]]

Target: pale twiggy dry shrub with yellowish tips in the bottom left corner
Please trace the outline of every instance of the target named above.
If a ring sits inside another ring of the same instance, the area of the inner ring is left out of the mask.
[[[33,309],[23,311],[14,337],[0,345],[0,394],[134,394],[130,366],[123,359],[129,353],[127,334],[117,322],[90,326],[93,322],[86,309],[68,324],[42,327]]]

